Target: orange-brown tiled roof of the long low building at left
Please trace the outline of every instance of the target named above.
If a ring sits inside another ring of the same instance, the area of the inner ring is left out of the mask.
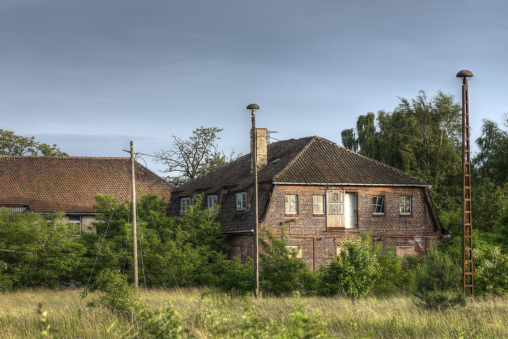
[[[136,189],[169,198],[170,184],[136,163]],[[0,156],[0,206],[35,212],[95,212],[94,196],[130,200],[130,158]]]

